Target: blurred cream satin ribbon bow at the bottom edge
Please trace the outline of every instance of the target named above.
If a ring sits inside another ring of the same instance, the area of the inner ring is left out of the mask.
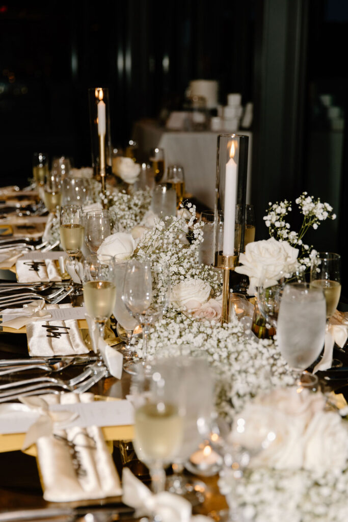
[[[152,494],[128,468],[122,471],[122,500],[137,510],[137,517],[155,515],[165,522],[211,522],[211,518],[203,515],[192,516],[192,506],[184,497],[162,491]]]

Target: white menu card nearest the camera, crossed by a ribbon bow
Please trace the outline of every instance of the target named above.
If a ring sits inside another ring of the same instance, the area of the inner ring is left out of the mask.
[[[10,397],[8,401],[10,402]],[[2,405],[3,406],[3,405]],[[5,406],[5,405],[4,405]],[[0,434],[26,433],[30,426],[38,420],[40,413],[25,411],[24,405],[13,405],[18,409],[1,413]],[[126,400],[98,400],[94,402],[76,402],[75,404],[55,404],[49,407],[52,411],[72,411],[78,417],[67,423],[64,429],[87,428],[87,426],[128,426],[134,424],[134,408]]]

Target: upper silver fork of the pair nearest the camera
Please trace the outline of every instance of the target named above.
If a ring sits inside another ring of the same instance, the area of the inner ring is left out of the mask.
[[[50,392],[48,392],[48,390],[51,387],[63,388],[67,392],[74,392],[77,394],[84,393],[87,392],[87,390],[91,386],[93,386],[93,384],[98,383],[98,381],[100,381],[100,379],[102,379],[106,375],[106,373],[106,366],[101,366],[98,367],[97,370],[95,370],[95,373],[91,377],[87,378],[85,381],[78,385],[67,385],[64,381],[59,382],[61,379],[55,379],[57,381],[56,383],[42,382],[34,384],[32,386],[23,387],[20,391],[18,389],[10,390],[9,392],[3,392],[0,394],[0,402],[6,402],[8,401],[8,399],[18,399],[20,396],[39,395],[42,393],[56,393],[54,390],[50,390]]]

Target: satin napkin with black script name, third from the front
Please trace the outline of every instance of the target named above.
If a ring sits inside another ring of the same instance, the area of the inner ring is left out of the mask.
[[[19,283],[62,281],[53,259],[19,259],[16,262],[16,272]]]

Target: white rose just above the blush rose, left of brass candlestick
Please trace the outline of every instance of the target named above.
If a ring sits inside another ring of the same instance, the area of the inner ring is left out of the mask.
[[[210,291],[210,284],[202,279],[185,279],[172,288],[171,301],[178,308],[193,310],[208,301]]]

